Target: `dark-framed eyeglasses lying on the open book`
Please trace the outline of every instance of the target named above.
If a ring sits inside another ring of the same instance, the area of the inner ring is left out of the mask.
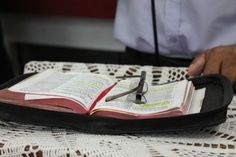
[[[145,80],[146,80],[146,71],[141,71],[141,75],[120,76],[120,77],[117,77],[117,78],[134,78],[134,77],[140,77],[138,85],[131,83],[130,90],[128,90],[126,92],[123,92],[123,93],[119,93],[119,94],[113,95],[113,96],[109,96],[109,97],[106,98],[105,101],[106,102],[112,101],[114,99],[117,99],[117,98],[120,98],[120,97],[128,95],[128,97],[127,97],[128,101],[133,101],[136,104],[144,104],[144,103],[146,103],[147,100],[146,100],[146,98],[144,96],[147,93],[147,91],[148,91],[148,85],[145,82]]]

